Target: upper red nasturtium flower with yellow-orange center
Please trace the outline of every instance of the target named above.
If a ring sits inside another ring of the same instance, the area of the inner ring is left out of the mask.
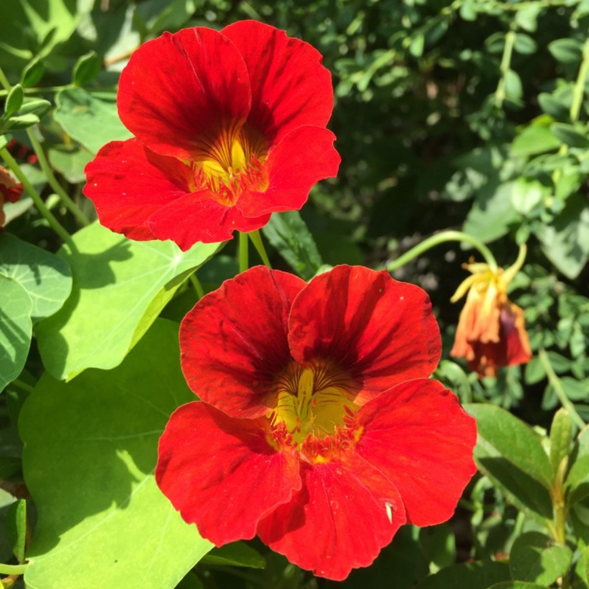
[[[269,25],[183,29],[141,45],[118,112],[135,135],[86,167],[101,223],[136,240],[231,239],[300,209],[339,155],[325,128],[331,75],[311,45]]]

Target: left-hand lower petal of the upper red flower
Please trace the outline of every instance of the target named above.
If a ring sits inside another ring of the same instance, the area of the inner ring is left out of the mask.
[[[94,202],[101,224],[136,240],[154,239],[150,215],[190,192],[190,168],[137,139],[107,143],[85,173],[84,194]]]

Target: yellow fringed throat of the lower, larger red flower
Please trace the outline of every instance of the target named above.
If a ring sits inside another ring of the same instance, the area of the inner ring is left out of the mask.
[[[323,361],[292,363],[277,380],[276,406],[267,414],[274,446],[292,446],[311,462],[328,462],[358,441],[353,379]]]

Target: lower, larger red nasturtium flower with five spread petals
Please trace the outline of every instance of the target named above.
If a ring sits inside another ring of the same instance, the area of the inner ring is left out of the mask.
[[[451,517],[475,472],[475,421],[428,378],[428,296],[385,272],[254,267],[197,303],[180,348],[201,401],[171,416],[155,478],[217,546],[257,534],[340,580],[401,525]]]

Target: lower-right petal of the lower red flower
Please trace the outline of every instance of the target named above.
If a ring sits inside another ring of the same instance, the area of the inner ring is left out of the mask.
[[[399,489],[407,521],[439,524],[475,474],[477,424],[437,380],[396,385],[360,408],[356,452]]]

